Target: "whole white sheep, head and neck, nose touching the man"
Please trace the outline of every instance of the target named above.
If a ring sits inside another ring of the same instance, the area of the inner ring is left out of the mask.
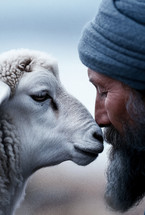
[[[101,129],[64,89],[52,57],[26,49],[0,55],[0,215],[15,213],[38,169],[87,165],[102,150]]]

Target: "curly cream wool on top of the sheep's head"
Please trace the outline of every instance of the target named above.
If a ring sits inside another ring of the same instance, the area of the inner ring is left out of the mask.
[[[0,55],[0,80],[9,85],[12,93],[24,74],[31,72],[34,66],[55,71],[58,76],[58,68],[55,59],[39,51],[27,49],[11,50]]]

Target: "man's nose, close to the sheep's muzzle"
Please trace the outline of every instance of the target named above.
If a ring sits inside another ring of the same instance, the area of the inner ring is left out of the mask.
[[[95,103],[95,120],[100,127],[106,127],[111,123],[108,117],[104,100],[100,100],[97,97]]]

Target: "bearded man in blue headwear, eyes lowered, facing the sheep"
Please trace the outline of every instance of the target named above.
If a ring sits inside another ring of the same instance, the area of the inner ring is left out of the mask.
[[[124,212],[145,195],[145,1],[102,0],[78,50],[112,145],[105,199]]]

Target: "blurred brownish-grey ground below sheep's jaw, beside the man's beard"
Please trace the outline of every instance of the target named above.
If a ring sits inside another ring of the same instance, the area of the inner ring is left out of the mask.
[[[39,170],[29,180],[16,215],[119,214],[107,208],[103,200],[106,165],[107,159],[100,155],[86,167],[64,162]],[[144,206],[145,201],[124,215],[143,215]]]

